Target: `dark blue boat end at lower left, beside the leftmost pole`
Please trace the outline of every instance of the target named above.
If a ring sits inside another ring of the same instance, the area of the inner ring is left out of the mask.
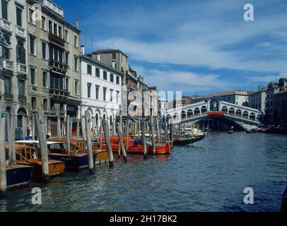
[[[26,165],[10,165],[6,167],[7,189],[28,186],[31,182],[34,167]]]

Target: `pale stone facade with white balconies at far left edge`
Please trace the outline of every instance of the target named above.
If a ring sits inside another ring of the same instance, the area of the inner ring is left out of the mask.
[[[0,29],[11,49],[0,47],[0,101],[6,102],[6,111],[13,109],[22,126],[23,115],[28,114],[27,21],[24,0],[1,0]]]

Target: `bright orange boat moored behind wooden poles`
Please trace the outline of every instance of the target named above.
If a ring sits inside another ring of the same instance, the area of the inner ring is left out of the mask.
[[[124,146],[128,148],[126,150],[127,154],[144,154],[143,152],[143,144],[141,140],[133,140],[131,136],[128,136],[128,140],[126,137],[122,138],[124,141]],[[119,137],[118,136],[110,136],[110,143],[112,146],[113,152],[118,152],[119,150]],[[105,138],[102,137],[102,149],[107,149],[107,145],[105,144]],[[148,154],[153,154],[153,145],[150,141],[146,141],[146,152]],[[171,148],[170,143],[156,143],[156,155],[170,155]]]

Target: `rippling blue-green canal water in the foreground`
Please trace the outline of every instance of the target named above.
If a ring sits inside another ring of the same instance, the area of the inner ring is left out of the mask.
[[[279,211],[287,182],[287,136],[211,132],[172,155],[67,172],[47,185],[8,192],[0,211]],[[42,205],[31,189],[42,189]],[[254,190],[245,205],[243,190]]]

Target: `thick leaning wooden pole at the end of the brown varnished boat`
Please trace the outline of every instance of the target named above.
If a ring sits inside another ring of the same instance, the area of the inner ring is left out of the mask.
[[[47,147],[47,135],[45,129],[45,117],[42,112],[35,114],[37,136],[40,145],[41,158],[42,158],[42,178],[44,182],[49,181],[49,157]]]

